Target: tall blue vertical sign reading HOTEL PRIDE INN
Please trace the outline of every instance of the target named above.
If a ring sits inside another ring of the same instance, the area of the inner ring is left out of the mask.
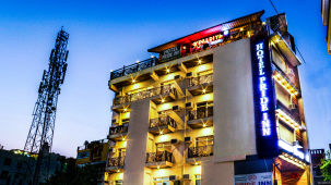
[[[250,45],[257,150],[260,158],[273,158],[279,146],[268,35],[252,37]]]

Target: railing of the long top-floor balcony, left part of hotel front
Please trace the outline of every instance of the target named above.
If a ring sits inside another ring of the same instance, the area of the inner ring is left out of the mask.
[[[150,98],[156,95],[166,95],[173,92],[174,95],[177,94],[176,88],[174,87],[173,84],[164,85],[161,87],[139,91],[135,94],[130,94],[130,95],[125,95],[121,97],[115,97],[114,99],[114,106],[121,104],[121,103],[127,103],[127,102],[132,102],[145,98]]]

